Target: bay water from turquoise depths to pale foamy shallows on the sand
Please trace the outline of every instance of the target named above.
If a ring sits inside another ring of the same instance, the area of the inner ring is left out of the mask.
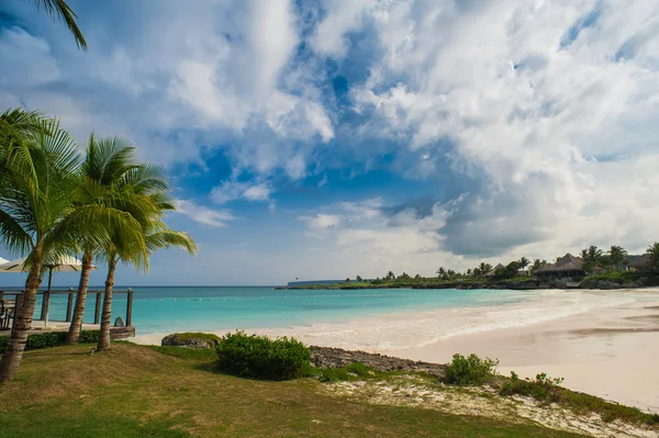
[[[465,333],[521,327],[624,304],[629,295],[581,291],[286,290],[272,288],[134,288],[137,340],[175,332],[245,329],[309,344],[372,350],[422,346]],[[85,322],[93,321],[94,295]],[[125,319],[126,294],[114,294],[113,319]],[[37,304],[36,314],[41,306]],[[51,319],[64,319],[66,296],[54,295]],[[153,336],[149,336],[153,335]]]

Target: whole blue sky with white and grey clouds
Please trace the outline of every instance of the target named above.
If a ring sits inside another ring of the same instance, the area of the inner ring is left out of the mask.
[[[132,139],[200,247],[119,284],[429,276],[659,239],[656,1],[70,5],[89,52],[32,2],[0,5],[1,106]]]

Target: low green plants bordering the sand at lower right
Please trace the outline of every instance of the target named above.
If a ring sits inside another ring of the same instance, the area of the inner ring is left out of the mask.
[[[522,380],[515,372],[511,372],[507,380],[499,390],[499,394],[524,395],[534,397],[541,403],[556,403],[574,411],[577,414],[599,414],[604,422],[621,419],[624,422],[659,425],[659,415],[645,414],[636,407],[618,405],[606,402],[594,395],[572,392],[560,388],[563,379],[551,379],[546,373],[536,375],[535,380]]]

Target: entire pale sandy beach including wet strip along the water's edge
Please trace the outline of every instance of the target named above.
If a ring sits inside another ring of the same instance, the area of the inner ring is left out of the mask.
[[[528,293],[537,297],[487,308],[246,330],[435,363],[449,362],[456,352],[474,352],[499,359],[499,370],[505,375],[512,370],[523,378],[546,372],[565,378],[563,386],[570,390],[659,412],[659,379],[655,378],[659,348],[648,348],[659,345],[659,289]],[[549,312],[562,314],[552,316]],[[451,327],[458,322],[461,328]],[[165,335],[138,335],[133,339],[159,345]]]

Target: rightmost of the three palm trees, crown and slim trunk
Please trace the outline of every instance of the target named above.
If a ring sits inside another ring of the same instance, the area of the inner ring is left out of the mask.
[[[158,249],[180,247],[190,254],[197,252],[197,245],[185,233],[169,229],[161,217],[166,211],[175,210],[174,202],[165,194],[161,184],[153,184],[156,176],[161,177],[163,170],[154,165],[141,165],[126,173],[123,187],[132,189],[139,196],[141,202],[126,203],[125,210],[139,223],[143,238],[146,243],[146,252],[131,242],[122,242],[115,235],[105,246],[101,257],[108,262],[108,277],[101,315],[99,333],[99,350],[110,349],[110,319],[112,316],[112,290],[114,273],[119,260],[135,266],[141,270],[148,270],[148,256]],[[160,178],[160,180],[163,180]]]

